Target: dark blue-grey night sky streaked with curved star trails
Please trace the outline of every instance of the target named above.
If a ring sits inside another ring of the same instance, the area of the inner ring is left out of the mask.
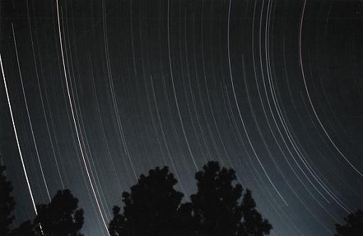
[[[363,2],[0,5],[15,225],[70,188],[85,235],[107,235],[140,173],[169,166],[187,200],[210,160],[251,188],[272,235],[332,235],[363,208]]]

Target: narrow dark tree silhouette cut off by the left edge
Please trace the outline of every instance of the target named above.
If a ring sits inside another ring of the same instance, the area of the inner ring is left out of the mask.
[[[0,166],[0,235],[9,235],[15,207],[15,201],[11,195],[13,187],[6,178],[5,169],[5,166]]]

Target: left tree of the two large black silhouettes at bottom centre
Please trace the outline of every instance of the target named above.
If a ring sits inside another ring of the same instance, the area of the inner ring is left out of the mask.
[[[183,193],[174,189],[177,180],[167,166],[141,175],[131,192],[122,194],[124,213],[113,208],[114,218],[110,222],[110,235],[164,236],[178,232],[177,210]]]

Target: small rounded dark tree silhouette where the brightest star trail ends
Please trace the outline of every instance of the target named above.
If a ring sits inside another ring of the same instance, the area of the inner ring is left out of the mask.
[[[83,209],[78,208],[78,199],[70,190],[59,190],[51,203],[37,205],[37,209],[34,225],[38,235],[42,235],[41,231],[47,236],[82,235]]]

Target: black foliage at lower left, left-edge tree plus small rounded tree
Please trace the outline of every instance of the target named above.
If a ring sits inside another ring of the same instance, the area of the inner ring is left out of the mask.
[[[49,204],[37,205],[38,215],[32,223],[27,220],[11,230],[14,221],[15,200],[13,187],[0,165],[0,235],[1,236],[81,236],[83,209],[78,208],[78,199],[70,190],[58,191]],[[39,226],[41,224],[41,228]]]

